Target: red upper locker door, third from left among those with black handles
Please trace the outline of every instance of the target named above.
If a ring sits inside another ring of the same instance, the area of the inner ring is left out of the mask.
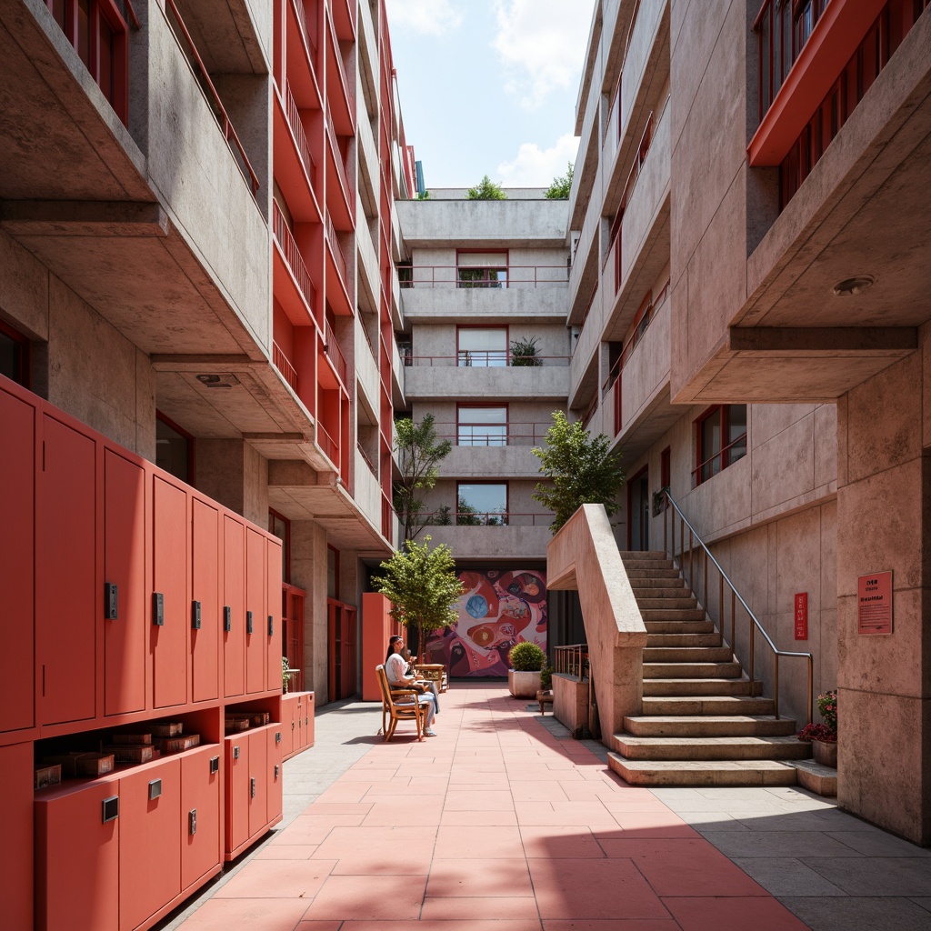
[[[200,602],[200,627],[191,628],[191,672],[194,701],[220,694],[220,515],[216,508],[197,499],[193,502],[191,598]]]

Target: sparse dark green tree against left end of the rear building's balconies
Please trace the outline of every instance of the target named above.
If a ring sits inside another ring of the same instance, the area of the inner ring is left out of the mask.
[[[449,439],[438,439],[433,414],[427,413],[420,425],[412,418],[395,421],[395,449],[401,478],[395,483],[395,510],[398,512],[404,539],[412,540],[430,523],[424,514],[424,499],[439,477],[439,463],[452,450]]]

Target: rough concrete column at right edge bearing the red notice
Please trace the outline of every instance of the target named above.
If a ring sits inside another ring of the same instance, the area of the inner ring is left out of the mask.
[[[838,403],[838,800],[931,843],[931,340]],[[893,631],[857,633],[857,576],[893,573]]]

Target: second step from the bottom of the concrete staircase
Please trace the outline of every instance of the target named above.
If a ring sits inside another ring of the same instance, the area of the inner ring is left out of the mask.
[[[627,760],[805,760],[811,746],[795,735],[638,737],[615,734],[614,749]]]

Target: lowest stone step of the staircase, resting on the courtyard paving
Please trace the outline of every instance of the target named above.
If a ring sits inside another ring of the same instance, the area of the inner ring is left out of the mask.
[[[608,765],[632,786],[794,786],[797,770],[776,760],[625,760],[608,753]]]

